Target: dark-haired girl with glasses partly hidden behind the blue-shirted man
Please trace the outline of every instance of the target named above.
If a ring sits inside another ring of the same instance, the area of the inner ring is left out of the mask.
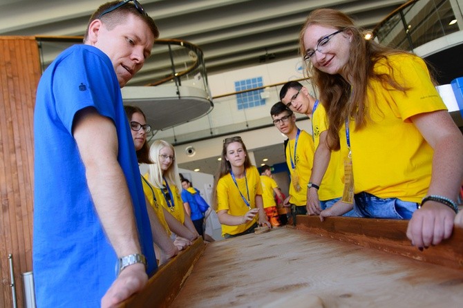
[[[135,106],[124,106],[124,110],[131,125],[133,144],[135,145],[138,163],[153,164],[149,158],[149,147],[147,144],[147,131],[151,131],[151,126],[146,124],[147,120],[143,111]],[[159,262],[162,264],[169,258],[176,256],[178,251],[189,246],[191,241],[196,238],[196,235],[178,222],[169,211],[164,209],[160,201],[164,197],[160,191],[155,189],[146,176],[141,175],[141,177],[153,240],[161,251],[156,256],[159,256]],[[169,238],[171,231],[179,235],[173,242]]]

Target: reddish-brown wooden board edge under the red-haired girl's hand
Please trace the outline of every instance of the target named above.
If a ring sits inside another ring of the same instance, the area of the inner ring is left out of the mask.
[[[351,242],[363,247],[395,253],[422,262],[463,270],[463,229],[454,227],[451,238],[419,251],[406,236],[408,220],[298,215],[296,229]]]

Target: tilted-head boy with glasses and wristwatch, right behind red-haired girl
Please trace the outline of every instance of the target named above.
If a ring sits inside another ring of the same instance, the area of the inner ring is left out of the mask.
[[[343,164],[340,151],[330,151],[326,146],[328,123],[325,108],[310,95],[308,88],[298,81],[288,81],[284,84],[280,90],[280,99],[292,111],[312,116],[312,139],[315,153],[314,168],[307,190],[307,211],[310,215],[321,215],[323,219],[324,214],[328,212],[322,213],[322,211],[330,209],[333,204],[339,202],[344,189],[341,181]],[[357,215],[354,210],[351,210],[343,216]]]

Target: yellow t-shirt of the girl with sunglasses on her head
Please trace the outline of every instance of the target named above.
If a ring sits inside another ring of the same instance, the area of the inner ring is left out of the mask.
[[[256,167],[251,166],[246,169],[246,177],[236,179],[236,183],[238,184],[239,191],[236,188],[236,185],[230,174],[220,177],[220,180],[218,180],[217,212],[227,210],[229,215],[245,215],[245,213],[249,211],[249,208],[245,204],[243,198],[241,198],[241,194],[243,194],[245,199],[249,202],[251,209],[256,207],[256,195],[262,195],[261,177]],[[247,196],[247,191],[249,191],[249,199]],[[222,236],[225,233],[234,235],[246,231],[249,229],[249,227],[256,223],[256,218],[257,215],[252,221],[246,222],[245,224],[240,224],[238,226],[228,226],[226,224],[222,224]]]

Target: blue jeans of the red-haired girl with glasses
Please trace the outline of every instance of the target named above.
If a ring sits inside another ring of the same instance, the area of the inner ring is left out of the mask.
[[[378,198],[366,192],[357,193],[354,198],[354,209],[361,217],[409,220],[413,212],[418,209],[416,202],[397,198]]]

